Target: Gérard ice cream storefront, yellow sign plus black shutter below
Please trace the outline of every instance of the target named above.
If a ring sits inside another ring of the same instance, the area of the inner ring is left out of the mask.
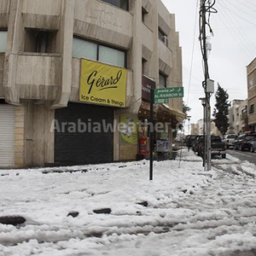
[[[113,161],[114,110],[125,108],[126,70],[81,60],[79,102],[55,110],[55,164]],[[124,141],[134,136],[125,133]]]

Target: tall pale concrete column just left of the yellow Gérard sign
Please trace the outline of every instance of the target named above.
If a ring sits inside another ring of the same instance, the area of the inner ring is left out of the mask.
[[[59,84],[60,89],[55,102],[50,107],[52,109],[67,107],[71,93],[74,7],[74,0],[62,0],[61,31],[59,32],[62,57],[61,84]]]

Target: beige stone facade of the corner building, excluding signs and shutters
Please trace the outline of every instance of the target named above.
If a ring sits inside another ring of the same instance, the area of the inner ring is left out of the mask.
[[[70,102],[85,104],[79,101],[81,67],[73,56],[73,38],[125,52],[125,108],[113,108],[114,119],[139,112],[142,74],[153,79],[156,88],[161,86],[160,75],[166,87],[182,86],[175,15],[160,0],[127,3],[122,9],[99,0],[1,1],[0,27],[7,41],[0,52],[0,98],[16,106],[15,167],[54,164],[51,125],[56,110],[68,108]],[[167,105],[172,115],[183,118],[182,98]],[[137,150],[137,144],[122,145],[114,131],[113,160],[135,159]]]

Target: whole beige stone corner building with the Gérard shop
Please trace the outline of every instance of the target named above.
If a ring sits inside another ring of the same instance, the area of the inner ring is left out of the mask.
[[[1,167],[135,160],[148,91],[179,86],[175,15],[160,0],[0,3]],[[182,100],[154,105],[171,124],[155,137],[172,142]]]

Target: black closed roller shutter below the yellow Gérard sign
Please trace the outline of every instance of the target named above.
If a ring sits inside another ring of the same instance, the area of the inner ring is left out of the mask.
[[[55,164],[113,161],[113,130],[103,131],[102,124],[113,127],[113,108],[69,103],[67,108],[56,109]]]

